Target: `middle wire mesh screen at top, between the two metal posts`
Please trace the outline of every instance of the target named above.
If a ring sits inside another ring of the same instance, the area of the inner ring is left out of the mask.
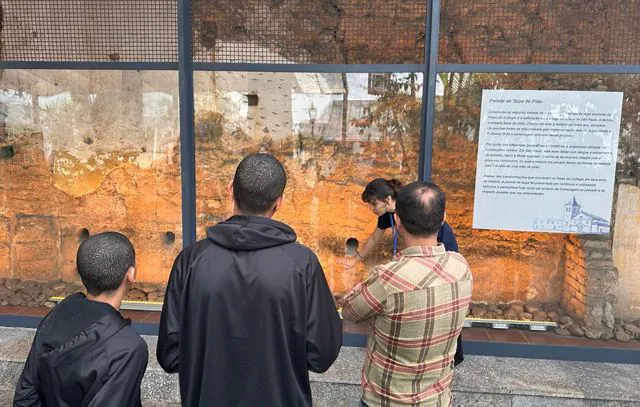
[[[425,0],[193,0],[196,62],[422,63]]]

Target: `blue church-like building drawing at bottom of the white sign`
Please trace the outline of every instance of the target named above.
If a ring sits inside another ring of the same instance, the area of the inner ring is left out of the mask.
[[[606,219],[582,210],[582,206],[572,197],[564,205],[564,219],[544,219],[533,222],[533,230],[540,232],[565,233],[609,233],[611,226]]]

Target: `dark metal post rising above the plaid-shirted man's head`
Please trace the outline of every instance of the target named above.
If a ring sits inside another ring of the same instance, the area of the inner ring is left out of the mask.
[[[431,179],[433,123],[435,119],[436,83],[438,75],[440,0],[428,0],[426,14],[427,25],[424,42],[425,71],[422,78],[422,126],[420,127],[420,168],[418,168],[418,179],[422,181]]]

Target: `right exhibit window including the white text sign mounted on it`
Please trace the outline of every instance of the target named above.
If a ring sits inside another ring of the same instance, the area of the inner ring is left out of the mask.
[[[433,179],[473,272],[471,320],[633,334],[638,79],[439,74]]]

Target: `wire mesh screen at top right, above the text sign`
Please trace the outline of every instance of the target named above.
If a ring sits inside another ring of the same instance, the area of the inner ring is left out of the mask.
[[[442,0],[441,63],[638,64],[640,0]]]

